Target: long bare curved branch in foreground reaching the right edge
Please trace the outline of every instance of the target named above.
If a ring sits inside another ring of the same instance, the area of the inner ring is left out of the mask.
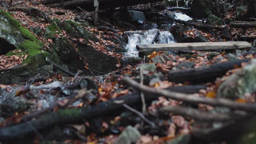
[[[218,98],[218,99],[213,99],[213,98],[203,98],[203,97],[195,97],[191,94],[182,94],[178,92],[172,92],[170,90],[161,90],[157,88],[151,88],[148,86],[142,86],[138,84],[138,82],[130,79],[129,77],[124,77],[122,78],[122,81],[132,88],[135,88],[137,90],[140,90],[144,93],[149,93],[155,96],[165,96],[167,98],[171,98],[174,100],[182,100],[184,102],[191,102],[191,103],[203,103],[203,104],[209,104],[212,106],[225,106],[228,108],[234,108],[238,110],[244,110],[247,112],[256,112],[256,105],[255,104],[245,104],[245,103],[237,103],[231,100],[223,99],[223,98]]]

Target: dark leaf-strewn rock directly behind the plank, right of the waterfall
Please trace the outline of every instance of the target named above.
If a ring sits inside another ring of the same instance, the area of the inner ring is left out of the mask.
[[[193,30],[194,37],[188,36],[187,31]],[[172,34],[177,42],[209,42],[198,30],[190,26],[175,26],[172,29]]]

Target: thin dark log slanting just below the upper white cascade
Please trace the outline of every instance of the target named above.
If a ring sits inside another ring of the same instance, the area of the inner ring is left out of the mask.
[[[178,22],[180,24],[185,24],[188,26],[194,26],[195,28],[201,28],[201,29],[225,30],[227,28],[227,27],[218,27],[218,26],[211,26],[211,25],[205,25],[205,24],[196,24],[193,22],[186,22],[184,20],[174,20],[174,22]]]

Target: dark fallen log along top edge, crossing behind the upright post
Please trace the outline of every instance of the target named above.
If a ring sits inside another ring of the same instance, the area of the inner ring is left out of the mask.
[[[98,0],[101,8],[115,8],[120,6],[130,6],[137,4],[148,4],[151,2],[158,2],[161,0]],[[60,0],[43,0],[41,4],[48,7],[61,7]],[[82,8],[94,8],[94,0],[64,0],[63,6],[71,8],[80,6]]]

